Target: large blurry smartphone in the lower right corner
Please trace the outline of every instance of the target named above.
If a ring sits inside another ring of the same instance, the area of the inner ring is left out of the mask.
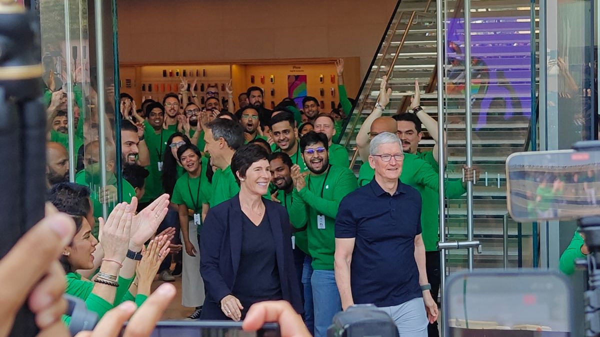
[[[571,296],[569,281],[554,271],[457,272],[444,291],[445,336],[571,336]]]

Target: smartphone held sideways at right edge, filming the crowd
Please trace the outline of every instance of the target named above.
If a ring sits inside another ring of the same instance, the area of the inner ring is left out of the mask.
[[[509,155],[506,203],[512,218],[532,222],[600,215],[599,163],[600,146]]]

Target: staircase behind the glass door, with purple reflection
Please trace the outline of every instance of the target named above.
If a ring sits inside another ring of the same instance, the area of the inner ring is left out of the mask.
[[[531,115],[530,7],[527,0],[471,0],[473,163],[481,177],[473,189],[474,236],[482,242],[475,267],[503,266],[503,222],[508,221],[508,266],[531,266],[532,227],[517,224],[506,210],[506,157],[523,151]],[[464,24],[462,0],[445,1],[445,101],[449,178],[460,179],[466,162],[464,101]],[[391,103],[384,112],[405,112],[421,83],[421,106],[437,119],[436,2],[402,0],[392,15],[358,95],[355,110],[341,139],[351,154],[362,121],[379,95],[382,76],[391,74]],[[538,9],[536,8],[536,17]],[[537,30],[536,21],[536,30]],[[535,50],[538,50],[536,36]],[[536,56],[537,57],[537,56]],[[536,61],[536,64],[538,62]],[[537,80],[536,80],[537,82]],[[425,130],[425,128],[424,128]],[[419,145],[431,151],[434,141],[425,132]],[[355,155],[353,169],[361,160]],[[487,177],[487,179],[486,179]],[[448,240],[466,239],[466,197],[448,200]],[[467,266],[466,250],[448,251],[450,270]],[[522,256],[522,258],[518,258]]]

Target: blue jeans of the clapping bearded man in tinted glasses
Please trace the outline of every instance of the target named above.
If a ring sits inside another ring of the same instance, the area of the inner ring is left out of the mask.
[[[334,315],[341,311],[340,292],[333,270],[313,270],[314,336],[326,337]]]

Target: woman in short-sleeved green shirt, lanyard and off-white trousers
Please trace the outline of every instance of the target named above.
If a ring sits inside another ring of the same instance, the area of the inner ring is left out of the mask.
[[[202,157],[196,145],[191,144],[182,145],[177,157],[185,170],[175,183],[171,198],[171,202],[178,205],[181,242],[185,248],[182,255],[181,304],[199,309],[204,302],[204,287],[200,276],[198,233],[208,212],[208,193],[211,190],[206,177],[208,159]],[[194,314],[192,316],[196,317],[199,312]]]

